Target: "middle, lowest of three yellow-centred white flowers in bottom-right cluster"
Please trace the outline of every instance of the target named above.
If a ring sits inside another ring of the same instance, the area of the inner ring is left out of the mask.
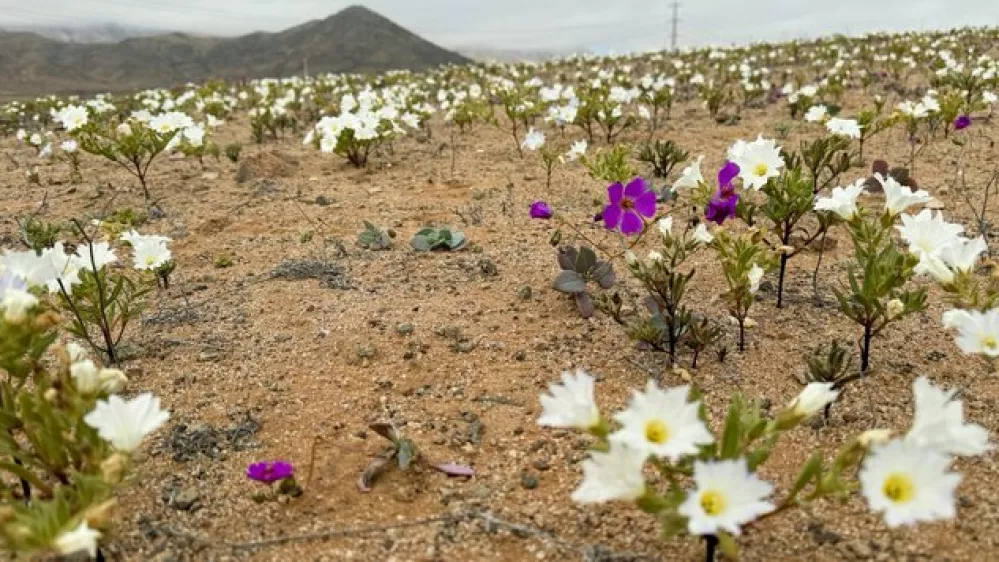
[[[741,525],[774,510],[763,501],[774,487],[750,473],[745,459],[694,462],[694,485],[677,509],[692,535],[738,535]]]

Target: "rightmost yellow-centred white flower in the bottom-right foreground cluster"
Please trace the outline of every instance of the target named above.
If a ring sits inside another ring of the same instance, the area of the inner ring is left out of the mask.
[[[950,457],[902,439],[875,446],[859,480],[871,511],[889,527],[952,519],[961,475],[947,472]]]

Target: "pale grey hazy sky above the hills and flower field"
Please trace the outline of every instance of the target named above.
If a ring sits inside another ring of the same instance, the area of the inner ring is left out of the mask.
[[[2,25],[279,31],[363,4],[448,47],[630,51],[667,44],[671,0],[0,0]],[[679,44],[999,25],[999,0],[686,0]]]

